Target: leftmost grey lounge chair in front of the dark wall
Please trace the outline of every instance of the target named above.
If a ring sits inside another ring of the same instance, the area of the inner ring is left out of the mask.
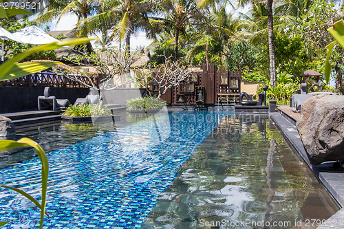
[[[65,109],[68,105],[70,105],[70,102],[67,99],[56,99],[55,96],[50,96],[50,87],[44,88],[44,96],[38,97],[38,103],[39,110],[45,106],[50,108],[52,107],[54,111],[57,109]]]

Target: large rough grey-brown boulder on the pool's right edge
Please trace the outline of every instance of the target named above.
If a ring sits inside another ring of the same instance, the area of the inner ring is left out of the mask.
[[[308,98],[301,107],[297,129],[312,165],[344,160],[344,96]]]

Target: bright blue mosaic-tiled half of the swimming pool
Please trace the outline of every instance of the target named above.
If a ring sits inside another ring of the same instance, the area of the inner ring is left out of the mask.
[[[228,114],[171,113],[48,153],[44,228],[140,228],[178,168]],[[38,197],[40,170],[34,158],[1,169],[0,182]],[[39,226],[33,204],[4,189],[0,197],[0,220],[12,221],[3,228]]]

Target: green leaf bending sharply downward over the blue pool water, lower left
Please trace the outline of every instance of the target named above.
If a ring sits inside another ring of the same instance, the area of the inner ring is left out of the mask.
[[[43,219],[45,214],[46,196],[47,196],[47,176],[49,173],[49,164],[47,162],[47,155],[43,151],[42,147],[30,140],[29,138],[21,138],[17,142],[12,140],[0,140],[0,151],[19,148],[23,146],[31,146],[36,149],[39,160],[42,163],[41,175],[42,175],[42,197],[41,197],[41,221],[39,228],[43,227]]]

